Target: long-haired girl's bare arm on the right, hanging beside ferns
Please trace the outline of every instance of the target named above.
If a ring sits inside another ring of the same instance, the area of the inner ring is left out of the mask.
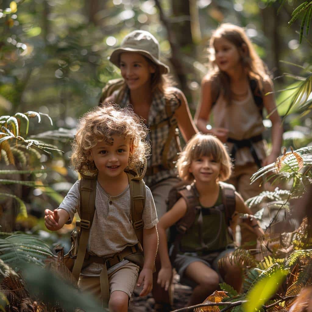
[[[266,80],[263,83],[264,94],[273,91],[273,83],[270,80]],[[263,105],[266,108],[268,114],[272,113],[269,118],[272,122],[271,138],[272,138],[272,151],[271,154],[263,161],[262,165],[266,166],[270,163],[274,163],[276,158],[280,155],[280,148],[282,145],[283,127],[281,124],[280,116],[276,110],[274,93],[265,95],[263,97]]]

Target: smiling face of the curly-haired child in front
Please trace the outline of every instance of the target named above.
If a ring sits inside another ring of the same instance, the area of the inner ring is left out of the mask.
[[[94,161],[101,178],[119,178],[128,165],[132,144],[123,136],[112,135],[111,142],[102,140],[90,149],[89,160]]]

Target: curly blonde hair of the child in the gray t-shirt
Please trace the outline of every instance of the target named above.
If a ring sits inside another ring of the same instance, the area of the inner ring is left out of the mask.
[[[72,143],[71,163],[80,173],[96,173],[95,163],[89,160],[90,149],[98,141],[110,139],[117,134],[129,139],[132,144],[128,167],[138,168],[149,157],[150,145],[145,141],[148,131],[142,119],[131,108],[120,108],[114,102],[94,107],[79,119]]]

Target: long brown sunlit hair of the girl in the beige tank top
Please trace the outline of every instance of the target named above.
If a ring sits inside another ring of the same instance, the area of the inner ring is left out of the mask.
[[[242,27],[224,23],[221,24],[212,34],[209,42],[209,80],[212,87],[212,100],[216,100],[221,91],[228,104],[231,103],[230,77],[226,72],[220,71],[216,63],[214,42],[216,39],[224,38],[234,44],[241,56],[241,63],[246,74],[258,81],[259,88],[262,91],[263,81],[269,78],[269,72],[266,65],[256,53],[250,39],[247,37]],[[245,51],[243,51],[243,45]]]

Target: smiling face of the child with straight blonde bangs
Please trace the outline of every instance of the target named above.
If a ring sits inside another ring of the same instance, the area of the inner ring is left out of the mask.
[[[192,160],[188,170],[197,183],[215,183],[219,178],[220,168],[221,163],[212,156],[200,156]]]

